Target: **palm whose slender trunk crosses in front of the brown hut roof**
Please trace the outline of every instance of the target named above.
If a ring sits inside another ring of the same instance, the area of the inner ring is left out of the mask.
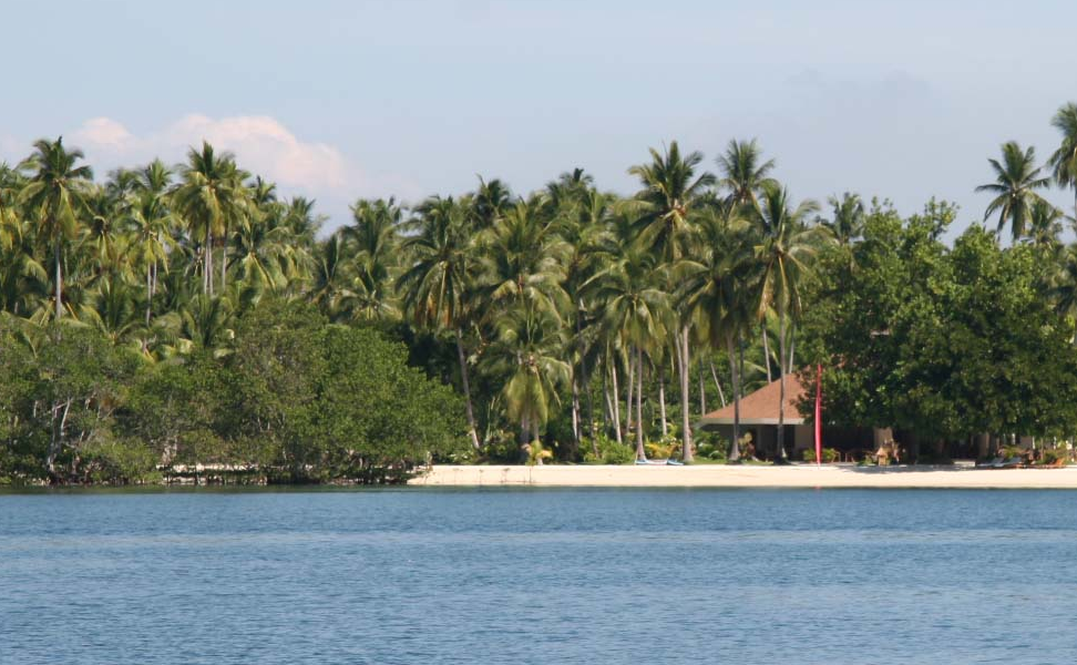
[[[813,254],[817,235],[804,224],[818,209],[819,205],[810,200],[791,207],[786,188],[778,183],[768,183],[762,188],[762,201],[755,215],[761,236],[756,246],[760,270],[758,316],[761,318],[768,308],[778,313],[778,378],[781,387],[776,463],[780,463],[786,454],[786,374],[792,369],[789,367],[791,358],[787,355],[787,324],[800,314],[800,280],[807,269],[804,262]]]

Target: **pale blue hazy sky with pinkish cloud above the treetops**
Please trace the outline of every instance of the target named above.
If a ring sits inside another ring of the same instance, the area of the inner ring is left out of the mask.
[[[1077,3],[120,0],[3,10],[0,161],[62,134],[98,177],[208,140],[327,229],[358,197],[526,193],[581,166],[629,194],[648,147],[708,168],[758,139],[793,198],[983,218],[988,157],[1039,161],[1077,101]],[[1073,197],[1048,197],[1071,209]]]

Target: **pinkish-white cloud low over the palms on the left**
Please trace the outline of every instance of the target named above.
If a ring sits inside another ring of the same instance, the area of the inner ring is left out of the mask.
[[[371,174],[337,147],[302,141],[268,115],[214,119],[191,114],[142,134],[111,117],[93,117],[72,132],[68,143],[81,147],[88,162],[102,172],[154,157],[180,162],[202,141],[234,153],[240,167],[277,183],[283,194],[317,198],[318,207],[331,217],[330,228],[347,219],[348,204],[360,196],[412,200],[421,195],[409,180]]]

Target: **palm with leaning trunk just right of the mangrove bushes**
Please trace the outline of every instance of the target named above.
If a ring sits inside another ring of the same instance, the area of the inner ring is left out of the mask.
[[[463,347],[463,328],[471,314],[469,294],[474,288],[478,262],[465,209],[464,204],[451,196],[428,198],[418,207],[418,216],[407,225],[413,235],[404,241],[411,263],[397,284],[403,293],[404,308],[417,325],[449,330],[457,338],[469,436],[478,450],[479,433]]]

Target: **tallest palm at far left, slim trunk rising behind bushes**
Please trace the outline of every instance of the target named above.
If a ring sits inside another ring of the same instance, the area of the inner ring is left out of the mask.
[[[63,136],[55,141],[41,139],[33,149],[34,154],[22,164],[22,168],[32,174],[19,198],[39,217],[40,236],[52,246],[55,317],[60,320],[63,316],[63,247],[65,242],[79,235],[79,214],[86,206],[93,170],[75,165],[85,155],[78,149],[64,149]]]

